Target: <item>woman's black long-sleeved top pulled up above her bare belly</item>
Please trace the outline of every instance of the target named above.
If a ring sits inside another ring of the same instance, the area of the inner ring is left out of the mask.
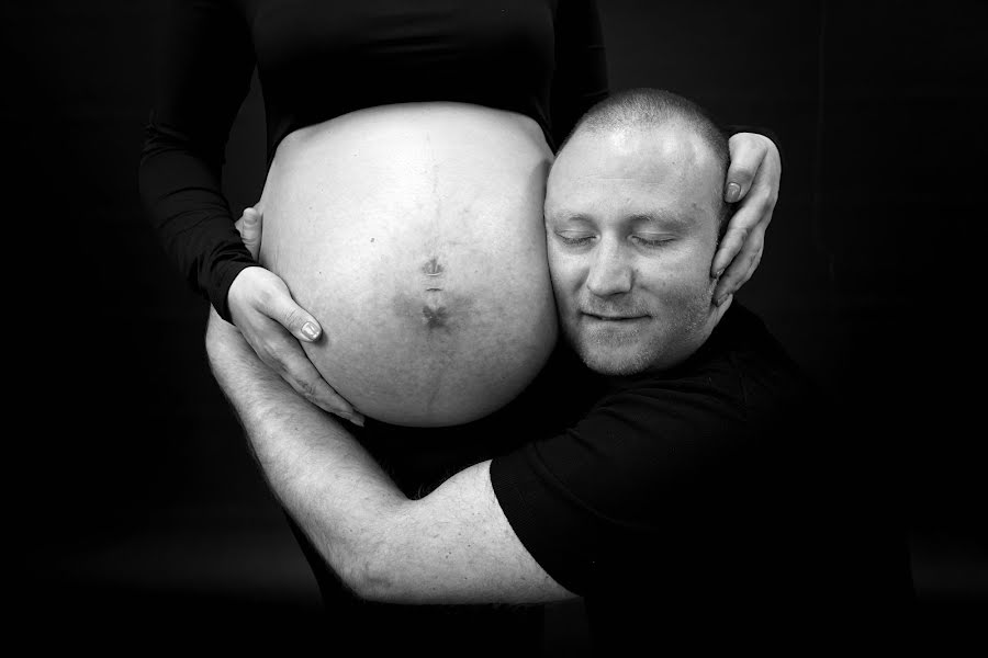
[[[221,188],[226,140],[255,67],[268,164],[293,131],[416,101],[525,114],[555,148],[607,95],[593,0],[176,0],[141,193],[167,252],[226,319],[229,285],[257,264]]]

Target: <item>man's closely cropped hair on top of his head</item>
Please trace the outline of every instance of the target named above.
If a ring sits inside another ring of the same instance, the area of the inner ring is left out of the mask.
[[[593,105],[580,117],[557,152],[562,152],[570,139],[580,131],[606,132],[621,128],[655,128],[680,122],[699,136],[721,169],[721,180],[727,179],[731,162],[729,135],[712,115],[689,99],[664,89],[638,87],[618,91]],[[718,240],[723,237],[733,204],[723,201],[720,193]]]

